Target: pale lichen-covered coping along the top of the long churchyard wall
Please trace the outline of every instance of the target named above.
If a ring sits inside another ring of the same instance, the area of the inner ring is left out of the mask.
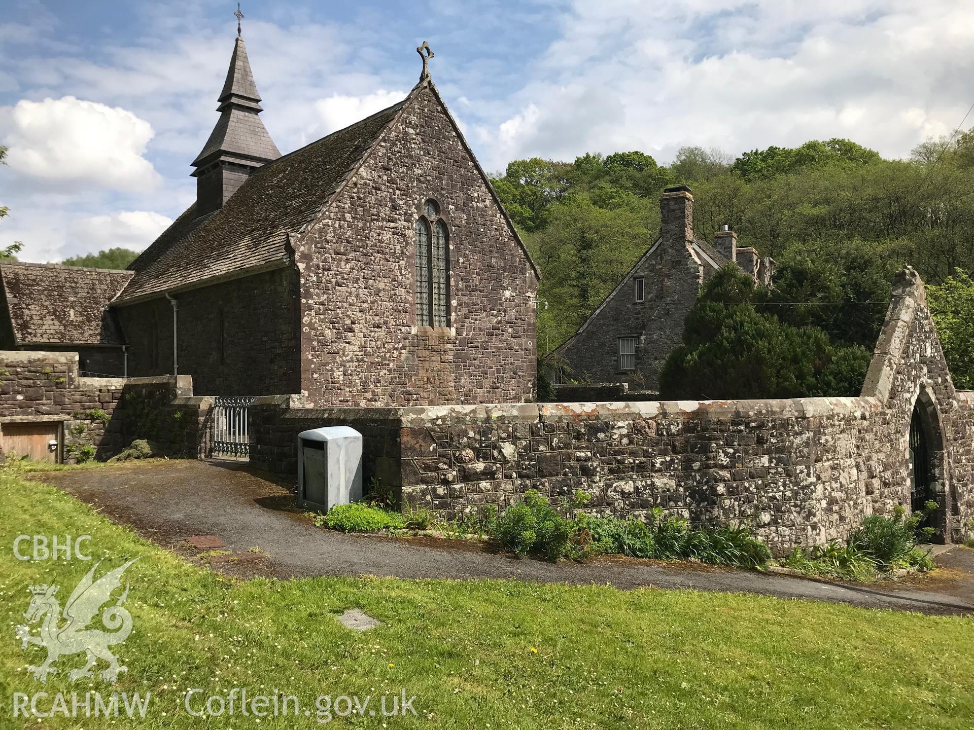
[[[974,402],[974,393],[971,394]],[[792,398],[710,401],[613,401],[600,403],[501,403],[471,406],[400,408],[311,408],[295,406],[295,396],[262,396],[255,406],[286,409],[284,418],[327,420],[399,420],[403,427],[490,423],[492,421],[790,419],[824,416],[869,418],[880,411],[873,397]]]

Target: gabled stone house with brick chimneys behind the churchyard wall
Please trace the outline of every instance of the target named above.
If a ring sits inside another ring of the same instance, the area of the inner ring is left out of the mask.
[[[664,190],[659,209],[659,237],[555,350],[565,379],[656,390],[666,356],[680,345],[684,319],[708,277],[734,262],[755,281],[770,280],[773,261],[738,246],[726,226],[713,244],[693,234],[693,194],[686,185]]]

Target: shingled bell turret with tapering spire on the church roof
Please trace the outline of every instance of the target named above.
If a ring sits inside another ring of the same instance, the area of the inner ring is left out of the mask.
[[[281,157],[277,145],[257,116],[263,111],[253,83],[250,61],[239,26],[234,55],[217,100],[220,119],[193,166],[196,171],[196,214],[218,209],[262,164]]]

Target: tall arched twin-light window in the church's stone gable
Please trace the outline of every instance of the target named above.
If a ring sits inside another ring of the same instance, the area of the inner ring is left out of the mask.
[[[450,326],[450,231],[430,199],[416,220],[416,323]]]

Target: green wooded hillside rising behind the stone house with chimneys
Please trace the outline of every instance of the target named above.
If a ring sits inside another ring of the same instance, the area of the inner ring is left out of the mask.
[[[787,310],[782,319],[821,328],[843,346],[872,350],[891,275],[903,264],[935,286],[961,277],[948,281],[952,296],[974,270],[974,130],[928,140],[908,160],[830,139],[737,158],[685,147],[668,166],[642,152],[518,160],[493,182],[542,270],[542,357],[652,244],[658,197],[670,185],[693,189],[698,237],[712,240],[728,224],[738,245],[775,259],[780,291],[768,299]]]

